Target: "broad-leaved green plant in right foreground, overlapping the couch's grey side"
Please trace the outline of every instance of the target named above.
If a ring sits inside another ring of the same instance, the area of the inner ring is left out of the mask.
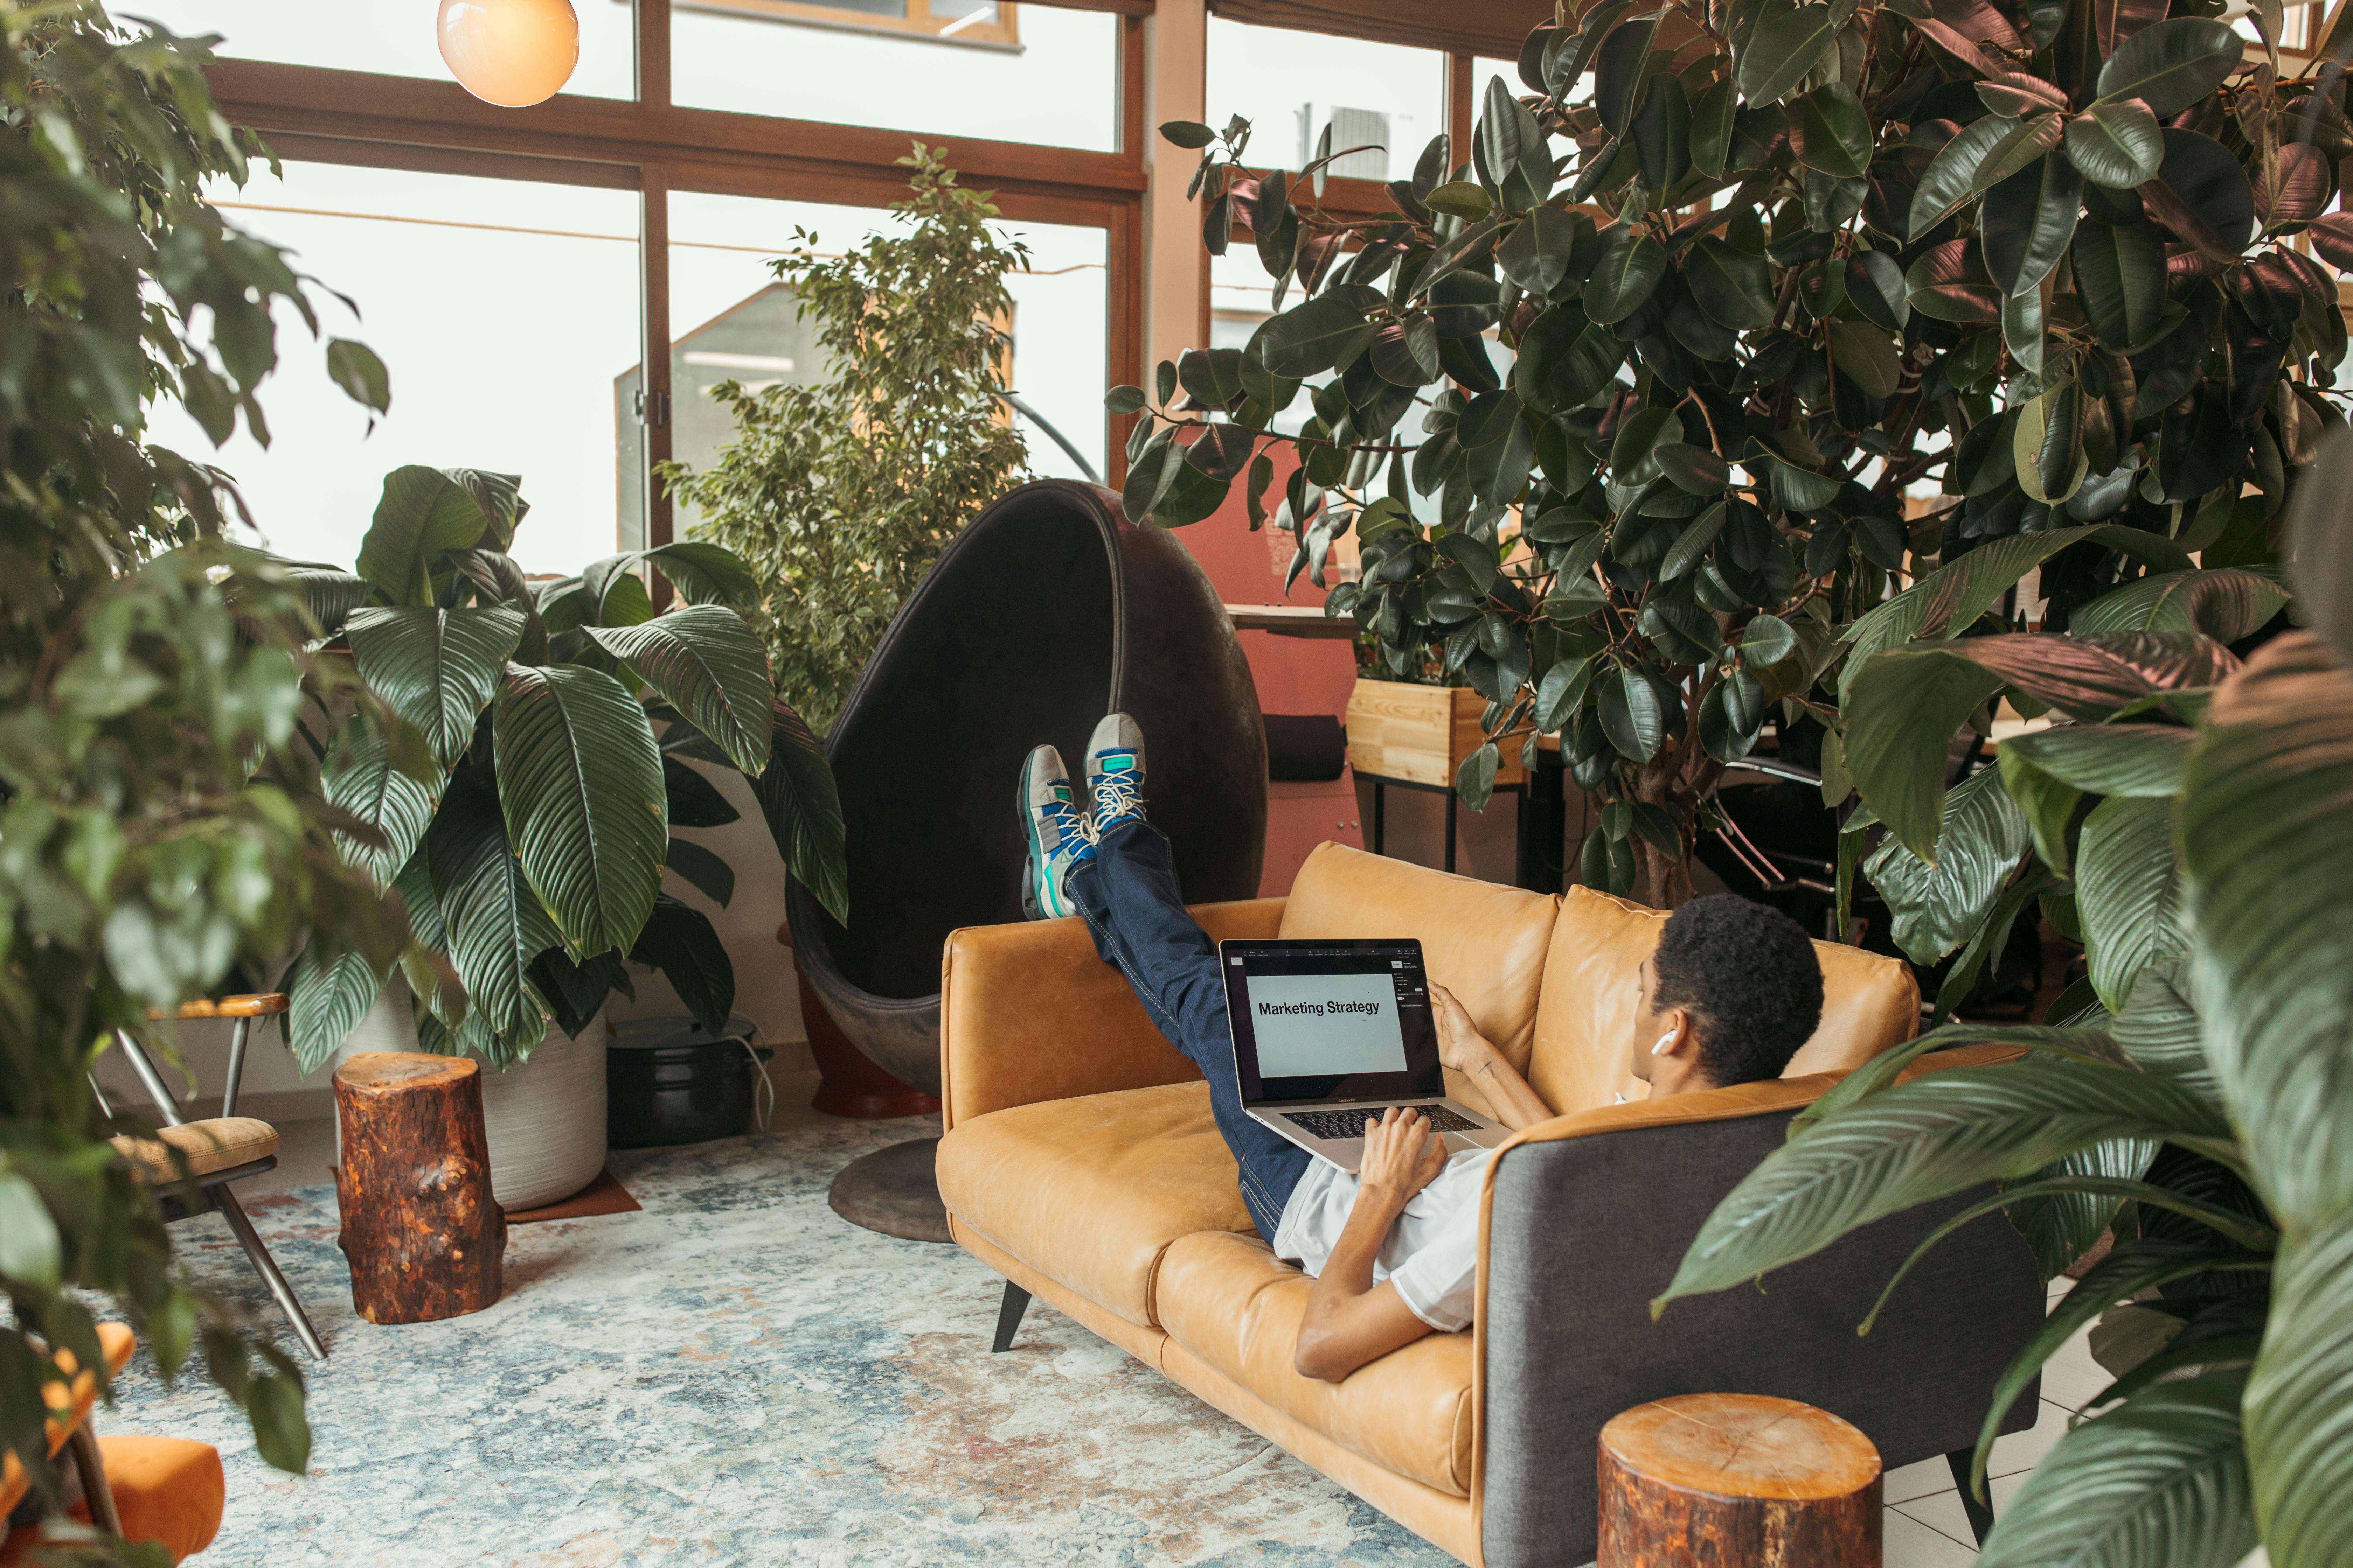
[[[2042,900],[2080,931],[2089,976],[2057,1023],[1948,1025],[1831,1088],[1708,1218],[1659,1305],[1965,1192],[1979,1201],[1922,1251],[2005,1211],[2045,1274],[2073,1265],[1993,1392],[1979,1495],[2005,1410],[2059,1345],[2089,1326],[2113,1382],[2002,1509],[1988,1568],[2228,1568],[2257,1544],[2273,1568],[2353,1561],[2348,494],[2339,425],[2294,508],[2308,632],[2280,623],[2271,576],[2214,569],[2106,595],[2080,635],[1880,651],[1849,691],[1866,811],[1920,867],[1913,914],[1977,900],[1977,952]],[[1948,792],[1953,715],[1993,691],[2059,722]],[[2021,1058],[1904,1077],[1962,1041]],[[1901,1288],[1899,1272],[1887,1295]]]

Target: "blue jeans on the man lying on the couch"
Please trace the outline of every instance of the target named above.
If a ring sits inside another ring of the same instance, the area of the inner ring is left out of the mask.
[[[1311,1157],[1242,1112],[1217,943],[1184,912],[1169,842],[1141,818],[1125,820],[1104,835],[1066,886],[1087,917],[1094,950],[1120,966],[1153,1025],[1209,1079],[1209,1114],[1242,1166],[1242,1204],[1259,1234],[1273,1241]]]

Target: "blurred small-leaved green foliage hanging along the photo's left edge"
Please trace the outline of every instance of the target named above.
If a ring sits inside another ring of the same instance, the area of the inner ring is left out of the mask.
[[[0,0],[0,1448],[49,1474],[49,1352],[104,1366],[96,1307],[167,1378],[202,1352],[261,1458],[299,1472],[301,1373],[174,1284],[155,1190],[106,1143],[151,1126],[108,1117],[89,1067],[115,1030],[174,1060],[148,1009],[224,990],[306,929],[334,961],[393,964],[400,903],[334,835],[365,851],[374,832],[329,804],[296,712],[351,715],[355,755],[431,755],[311,654],[315,583],[221,541],[228,477],[146,442],[158,400],[214,442],[240,421],[268,442],[273,310],[315,329],[287,259],[202,202],[259,153],[212,103],[207,40],[75,2]],[[327,357],[388,404],[367,348]],[[153,1561],[120,1542],[78,1561],[96,1559]]]

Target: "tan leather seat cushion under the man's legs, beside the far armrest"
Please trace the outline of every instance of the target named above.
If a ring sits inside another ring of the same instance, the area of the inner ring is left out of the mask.
[[[1257,1234],[1198,1079],[958,1121],[939,1140],[936,1173],[958,1220],[1146,1328],[1160,1326],[1153,1269],[1172,1241]]]

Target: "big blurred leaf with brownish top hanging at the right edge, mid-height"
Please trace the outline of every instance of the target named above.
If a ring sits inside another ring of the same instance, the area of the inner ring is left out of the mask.
[[[2181,792],[2191,994],[2264,1201],[2353,1206],[2353,675],[2306,632],[2207,708]]]

